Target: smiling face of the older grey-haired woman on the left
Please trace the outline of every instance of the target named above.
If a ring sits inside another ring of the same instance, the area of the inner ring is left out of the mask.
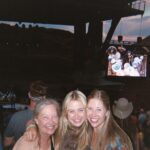
[[[54,105],[46,105],[41,109],[35,122],[38,125],[39,132],[44,135],[52,135],[58,127],[58,113]]]

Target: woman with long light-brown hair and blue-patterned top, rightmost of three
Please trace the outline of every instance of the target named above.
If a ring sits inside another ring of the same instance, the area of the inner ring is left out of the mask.
[[[133,150],[127,134],[114,120],[110,100],[103,90],[94,90],[88,96],[87,119],[92,150]]]

